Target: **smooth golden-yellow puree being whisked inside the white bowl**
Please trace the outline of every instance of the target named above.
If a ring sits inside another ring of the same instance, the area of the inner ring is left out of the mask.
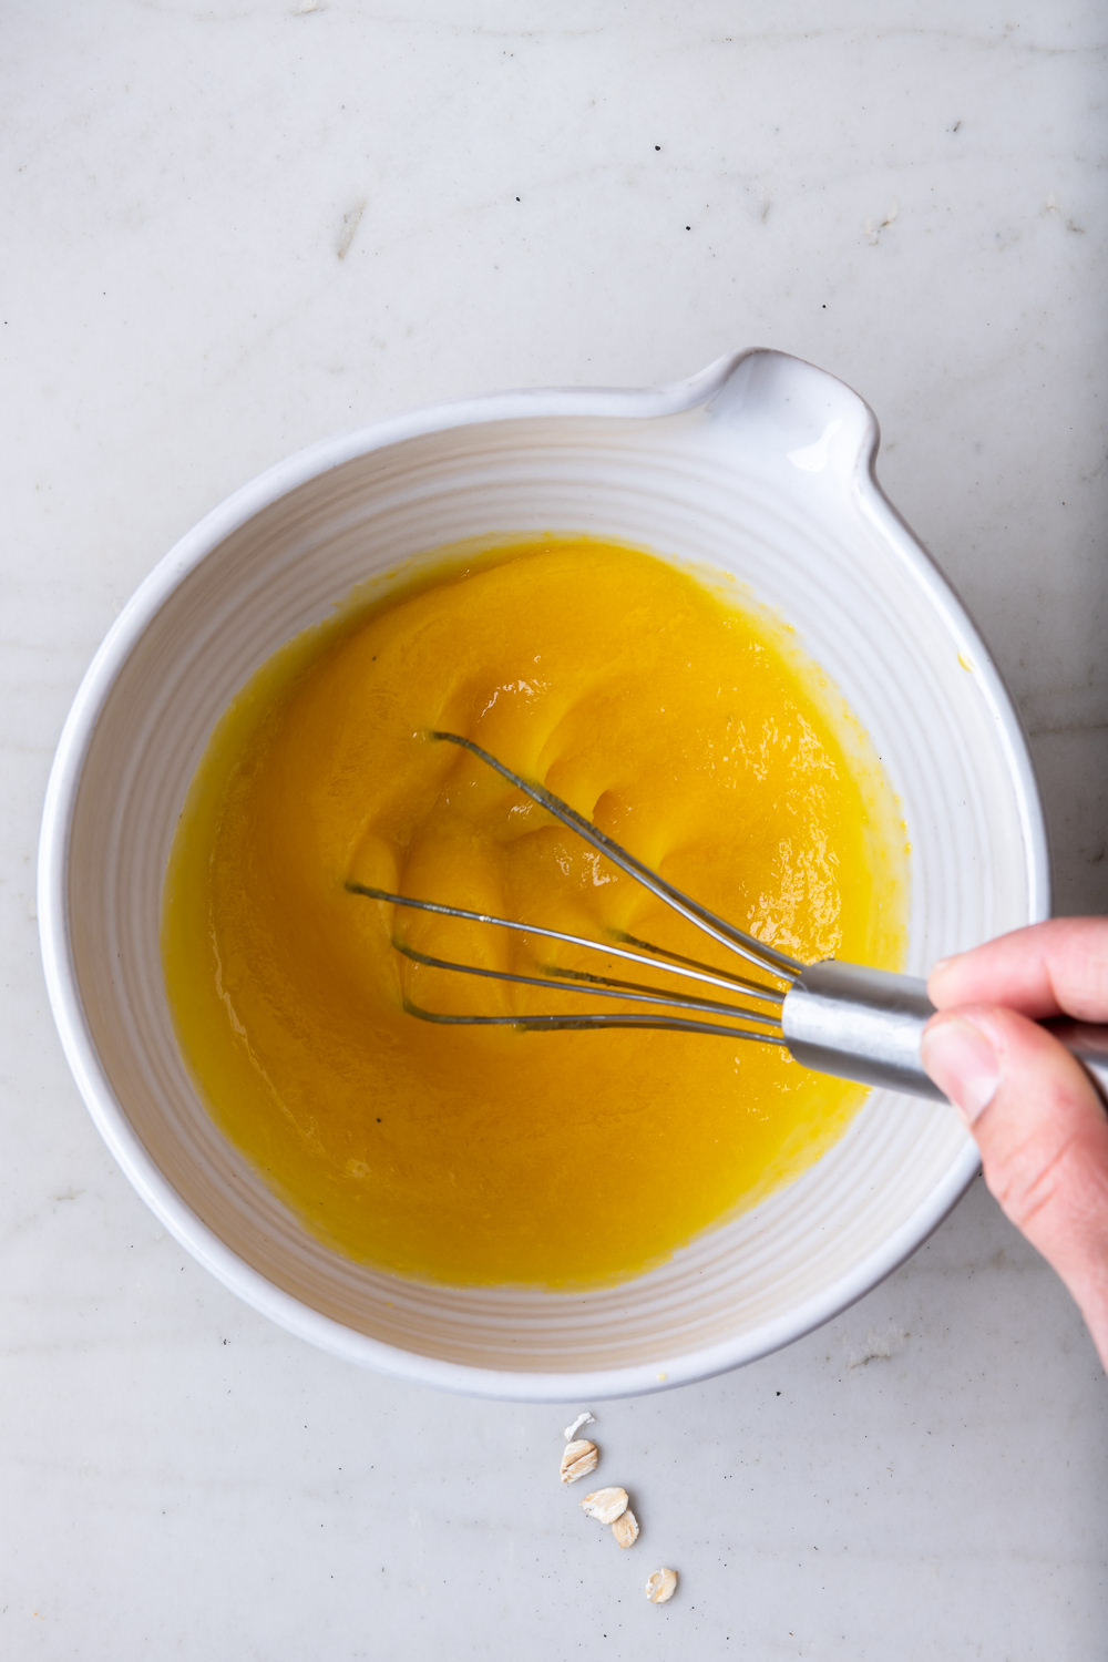
[[[311,1232],[370,1265],[560,1288],[633,1275],[809,1167],[864,1090],[741,1040],[405,1014],[405,997],[483,1014],[603,1006],[420,969],[392,936],[525,974],[585,959],[400,914],[349,879],[726,962],[487,766],[425,736],[437,728],[809,961],[899,966],[895,799],[839,696],[738,585],[581,537],[440,567],[347,610],[279,652],[219,723],[169,861],[163,956],[184,1057],[226,1135]]]

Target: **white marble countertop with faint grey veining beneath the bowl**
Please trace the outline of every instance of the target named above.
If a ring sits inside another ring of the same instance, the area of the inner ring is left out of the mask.
[[[568,1414],[354,1371],[161,1233],[33,919],[80,675],[234,485],[405,406],[754,344],[877,409],[1030,728],[1057,906],[1103,911],[1103,8],[42,0],[0,30],[0,1654],[1103,1655],[1105,1378],[980,1183],[822,1331],[598,1408],[641,1496],[620,1554],[552,1476]]]

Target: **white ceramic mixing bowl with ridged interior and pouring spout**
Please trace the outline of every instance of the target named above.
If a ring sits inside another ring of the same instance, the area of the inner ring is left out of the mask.
[[[980,637],[874,480],[839,381],[748,352],[661,391],[513,392],[316,445],[216,509],[100,648],[50,778],[42,946],[66,1057],[176,1238],[294,1333],[488,1396],[591,1399],[751,1361],[867,1291],[977,1168],[950,1109],[875,1092],[799,1182],[618,1288],[400,1281],[309,1237],[196,1097],[161,981],[161,883],[208,736],[276,647],[463,537],[585,530],[749,582],[846,693],[912,841],[909,969],[1048,912],[1042,813]]]

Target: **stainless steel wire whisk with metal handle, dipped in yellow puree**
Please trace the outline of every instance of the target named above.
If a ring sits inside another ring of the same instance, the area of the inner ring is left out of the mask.
[[[458,745],[493,768],[508,784],[522,791],[585,843],[598,849],[620,871],[633,878],[671,911],[684,917],[701,934],[738,956],[744,966],[757,971],[757,977],[703,964],[694,957],[673,952],[626,932],[611,932],[596,941],[588,936],[515,917],[497,917],[490,912],[468,911],[445,901],[417,899],[410,894],[392,894],[364,883],[347,883],[351,894],[420,912],[437,912],[460,917],[497,929],[518,931],[528,937],[560,941],[573,947],[620,959],[638,969],[664,971],[694,991],[666,991],[664,987],[623,981],[608,974],[590,974],[580,969],[543,966],[543,974],[525,976],[490,969],[478,964],[460,964],[434,957],[395,939],[394,947],[405,957],[430,969],[455,971],[463,976],[517,982],[528,987],[545,987],[552,992],[583,992],[598,999],[620,1001],[618,1010],[558,1014],[480,1015],[447,1014],[424,1009],[405,999],[410,1015],[425,1022],[465,1027],[515,1027],[525,1032],[565,1032],[580,1029],[653,1027],[686,1034],[714,1034],[728,1039],[754,1040],[787,1049],[804,1067],[821,1074],[834,1074],[864,1085],[885,1085],[917,1097],[944,1100],[942,1092],[924,1072],[920,1062],[920,1037],[935,1009],[927,997],[927,984],[914,976],[899,976],[862,964],[824,959],[804,964],[777,947],[767,946],[744,929],[718,917],[698,901],[666,883],[656,871],[645,866],[605,831],[595,826],[560,796],[522,778],[497,756],[473,740],[458,733],[430,733],[434,740]],[[709,996],[709,992],[713,996]],[[719,994],[726,994],[721,997]],[[626,1009],[628,1004],[648,1009]],[[1066,1020],[1048,1020],[1052,1030],[1093,1077],[1101,1097],[1108,1102],[1108,1027],[1078,1025]]]

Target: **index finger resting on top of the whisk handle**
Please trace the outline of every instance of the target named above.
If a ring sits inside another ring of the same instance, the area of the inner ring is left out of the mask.
[[[1052,917],[949,957],[930,972],[932,1004],[1007,1004],[1025,1015],[1108,1020],[1108,917]]]

